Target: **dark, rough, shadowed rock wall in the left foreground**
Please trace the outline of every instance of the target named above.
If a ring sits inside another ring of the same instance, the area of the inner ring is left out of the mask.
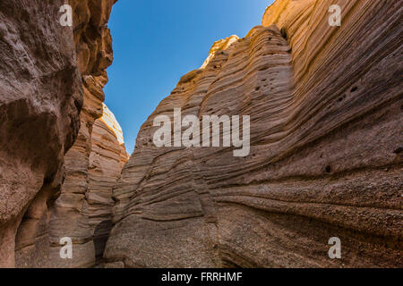
[[[0,1],[0,267],[14,265],[22,216],[37,222],[60,187],[80,128],[81,76],[62,4]]]

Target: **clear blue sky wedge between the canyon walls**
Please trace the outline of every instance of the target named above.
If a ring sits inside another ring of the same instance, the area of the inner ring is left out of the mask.
[[[272,0],[119,0],[108,27],[115,60],[107,69],[106,104],[132,154],[141,124],[211,45],[244,37]]]

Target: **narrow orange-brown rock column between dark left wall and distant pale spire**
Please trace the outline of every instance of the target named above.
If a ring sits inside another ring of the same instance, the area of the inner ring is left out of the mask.
[[[107,84],[106,69],[113,61],[112,38],[107,21],[115,2],[73,2],[74,40],[83,82],[81,128],[73,147],[64,156],[65,179],[60,196],[49,207],[47,235],[42,233],[34,249],[19,250],[19,266],[89,267],[95,263],[86,194],[90,184],[93,124],[102,116],[102,102],[105,98],[103,88]],[[59,255],[62,247],[60,240],[64,237],[73,241],[73,259],[62,259]]]

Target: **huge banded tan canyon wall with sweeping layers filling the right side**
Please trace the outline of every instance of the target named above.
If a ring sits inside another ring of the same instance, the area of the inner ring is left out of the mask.
[[[114,189],[107,266],[403,266],[401,10],[278,0],[262,26],[215,46],[141,127]],[[174,107],[250,115],[250,155],[155,147],[153,120]]]

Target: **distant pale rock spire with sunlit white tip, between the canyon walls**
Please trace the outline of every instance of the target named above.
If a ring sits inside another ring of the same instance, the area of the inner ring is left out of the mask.
[[[129,159],[124,147],[122,129],[106,105],[104,114],[94,124],[91,139],[90,181],[85,198],[88,204],[85,215],[88,216],[95,257],[99,262],[112,228],[112,188]]]

